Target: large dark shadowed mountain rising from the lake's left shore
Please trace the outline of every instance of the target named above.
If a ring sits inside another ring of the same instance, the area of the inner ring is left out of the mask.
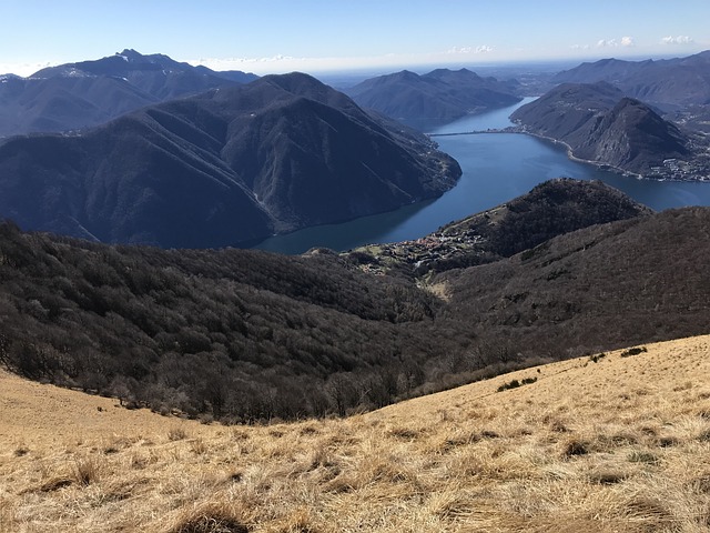
[[[224,247],[433,198],[459,175],[424,135],[293,73],[81,135],[11,138],[0,215],[104,242]]]

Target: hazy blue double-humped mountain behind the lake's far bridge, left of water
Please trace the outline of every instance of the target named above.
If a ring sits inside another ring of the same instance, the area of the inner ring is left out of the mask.
[[[407,70],[365,80],[346,92],[361,105],[409,125],[452,121],[520,100],[518,83],[481,78],[467,69]]]

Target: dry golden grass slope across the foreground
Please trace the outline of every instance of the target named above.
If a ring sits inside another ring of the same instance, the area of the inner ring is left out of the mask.
[[[710,336],[620,354],[257,428],[0,373],[0,531],[709,531]]]

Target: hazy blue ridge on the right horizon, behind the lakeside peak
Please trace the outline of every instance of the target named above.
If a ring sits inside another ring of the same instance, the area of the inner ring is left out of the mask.
[[[628,97],[657,105],[710,104],[710,50],[687,58],[647,61],[602,59],[558,73],[556,83],[606,81]]]

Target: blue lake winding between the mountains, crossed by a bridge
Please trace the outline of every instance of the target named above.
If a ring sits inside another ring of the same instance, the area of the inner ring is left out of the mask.
[[[432,133],[501,129],[528,98],[509,108],[467,117]],[[655,210],[710,205],[710,183],[638,180],[571,161],[564,147],[517,133],[437,137],[439,149],[454,157],[463,174],[456,187],[435,200],[339,224],[306,228],[270,238],[254,248],[303,253],[315,247],[337,251],[363,244],[418,239],[444,224],[525,194],[552,178],[601,180]]]

